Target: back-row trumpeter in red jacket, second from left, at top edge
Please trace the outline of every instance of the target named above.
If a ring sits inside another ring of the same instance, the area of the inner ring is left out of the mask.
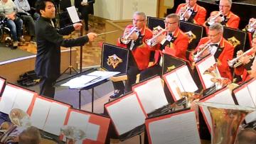
[[[203,26],[210,26],[212,23],[221,23],[223,26],[229,28],[238,28],[240,23],[239,16],[230,11],[232,0],[220,0],[219,11],[211,13],[210,18],[203,24]]]

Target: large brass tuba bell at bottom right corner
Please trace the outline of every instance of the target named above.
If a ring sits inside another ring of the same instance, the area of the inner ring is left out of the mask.
[[[210,112],[211,143],[214,144],[233,144],[245,116],[256,110],[252,107],[231,104],[210,102],[196,102],[196,104],[206,107]]]

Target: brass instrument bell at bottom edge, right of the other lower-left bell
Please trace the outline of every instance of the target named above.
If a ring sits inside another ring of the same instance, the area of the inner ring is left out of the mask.
[[[75,144],[77,140],[85,139],[85,132],[75,126],[63,126],[60,132],[66,136],[66,144]]]

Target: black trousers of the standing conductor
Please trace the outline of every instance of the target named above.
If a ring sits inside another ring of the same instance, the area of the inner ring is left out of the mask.
[[[56,79],[48,79],[46,77],[41,77],[40,79],[40,95],[47,96],[54,99],[55,94],[55,84]]]

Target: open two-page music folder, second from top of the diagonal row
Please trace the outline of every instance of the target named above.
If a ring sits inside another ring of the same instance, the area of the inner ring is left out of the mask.
[[[182,98],[181,92],[198,91],[198,87],[196,86],[187,65],[177,67],[171,72],[164,74],[163,77],[174,101]]]

